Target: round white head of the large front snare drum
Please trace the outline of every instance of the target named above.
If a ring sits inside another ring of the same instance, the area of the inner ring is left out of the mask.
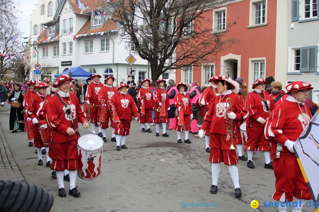
[[[82,135],[78,139],[78,146],[81,149],[93,151],[103,147],[103,140],[100,138],[100,136],[93,135],[93,134],[86,134],[86,135]]]

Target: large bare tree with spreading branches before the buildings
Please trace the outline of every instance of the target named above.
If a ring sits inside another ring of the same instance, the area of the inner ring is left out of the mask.
[[[104,8],[122,25],[119,35],[127,49],[150,63],[152,79],[167,70],[199,65],[206,56],[238,43],[226,32],[211,34],[210,9],[229,0],[118,0]],[[236,20],[227,23],[227,30]]]

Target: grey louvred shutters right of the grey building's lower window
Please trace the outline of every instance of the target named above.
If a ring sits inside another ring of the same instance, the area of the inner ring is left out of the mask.
[[[318,46],[300,47],[300,72],[316,72]]]

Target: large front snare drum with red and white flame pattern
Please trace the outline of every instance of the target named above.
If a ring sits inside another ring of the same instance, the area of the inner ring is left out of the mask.
[[[92,181],[100,177],[103,143],[100,136],[92,134],[83,135],[78,139],[78,176],[81,179]]]

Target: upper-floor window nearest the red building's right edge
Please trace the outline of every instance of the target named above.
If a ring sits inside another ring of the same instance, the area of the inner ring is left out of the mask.
[[[267,25],[267,1],[268,0],[250,0],[250,27]]]

